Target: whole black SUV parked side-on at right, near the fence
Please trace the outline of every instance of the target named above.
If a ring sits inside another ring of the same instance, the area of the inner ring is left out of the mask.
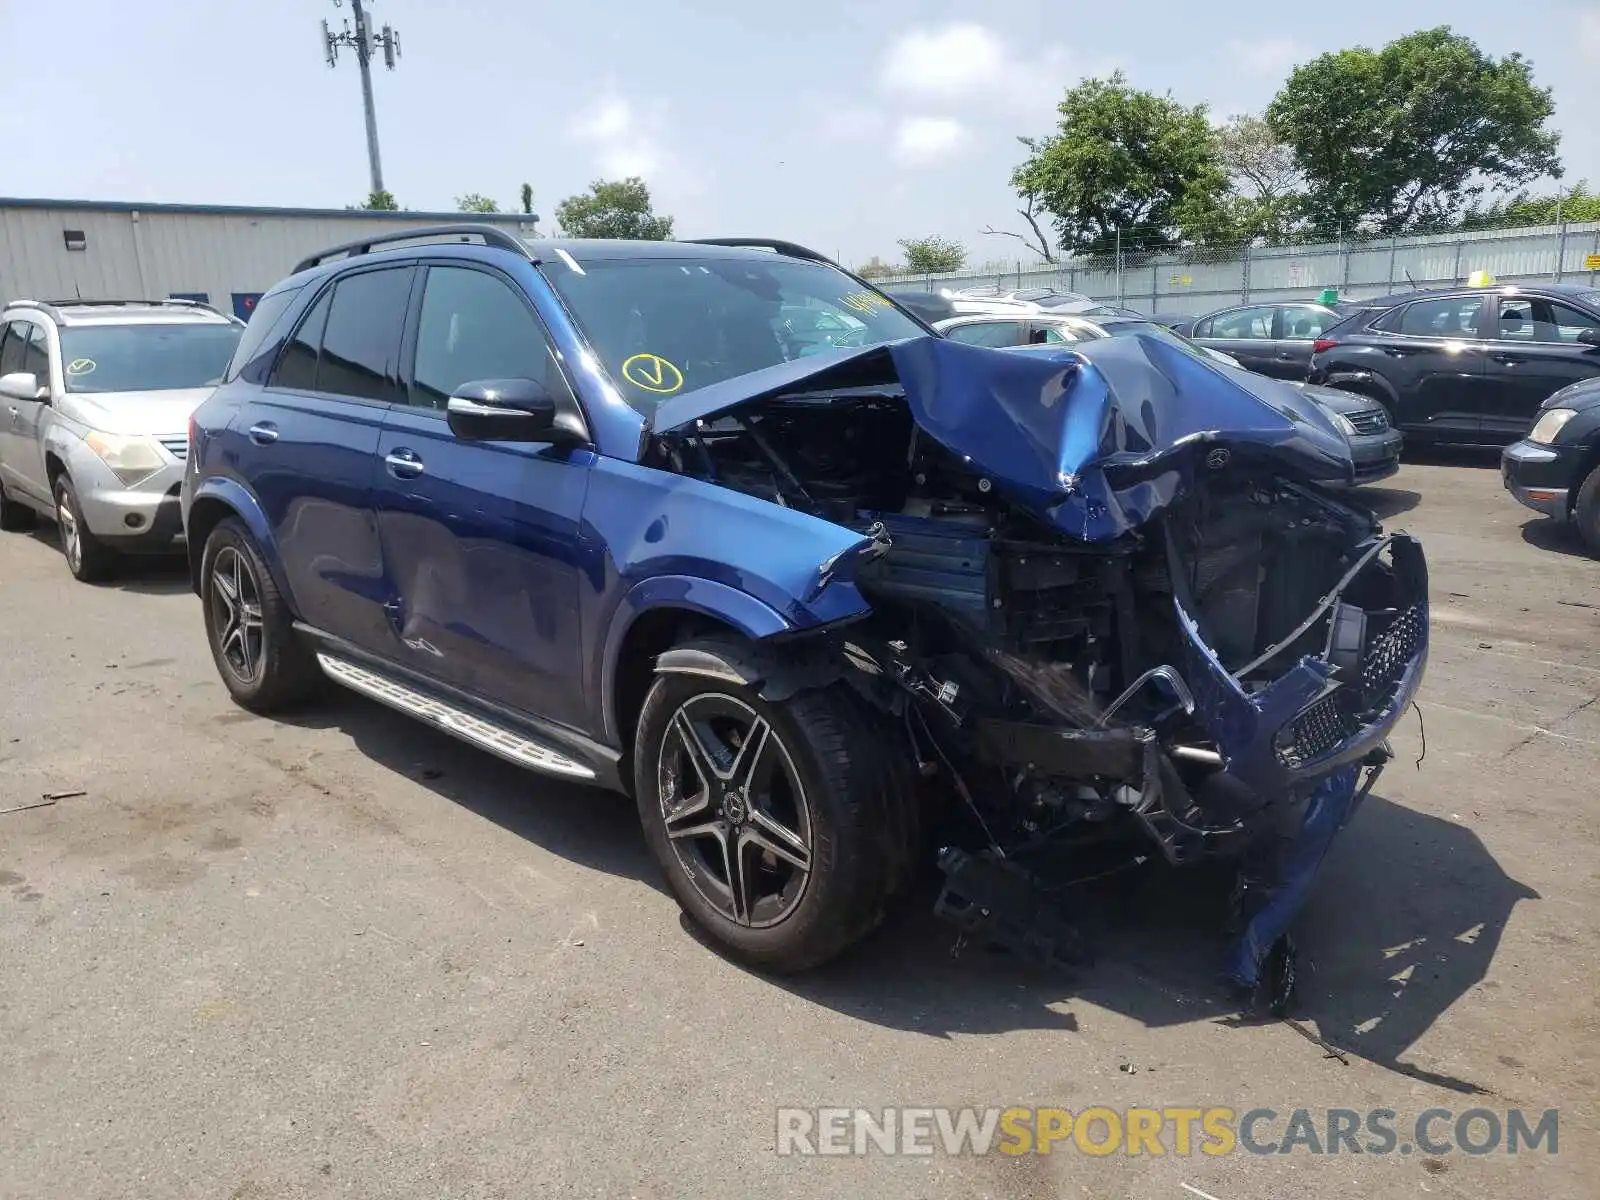
[[[1600,291],[1528,285],[1403,293],[1325,330],[1309,378],[1379,400],[1408,438],[1504,446],[1595,374]]]

